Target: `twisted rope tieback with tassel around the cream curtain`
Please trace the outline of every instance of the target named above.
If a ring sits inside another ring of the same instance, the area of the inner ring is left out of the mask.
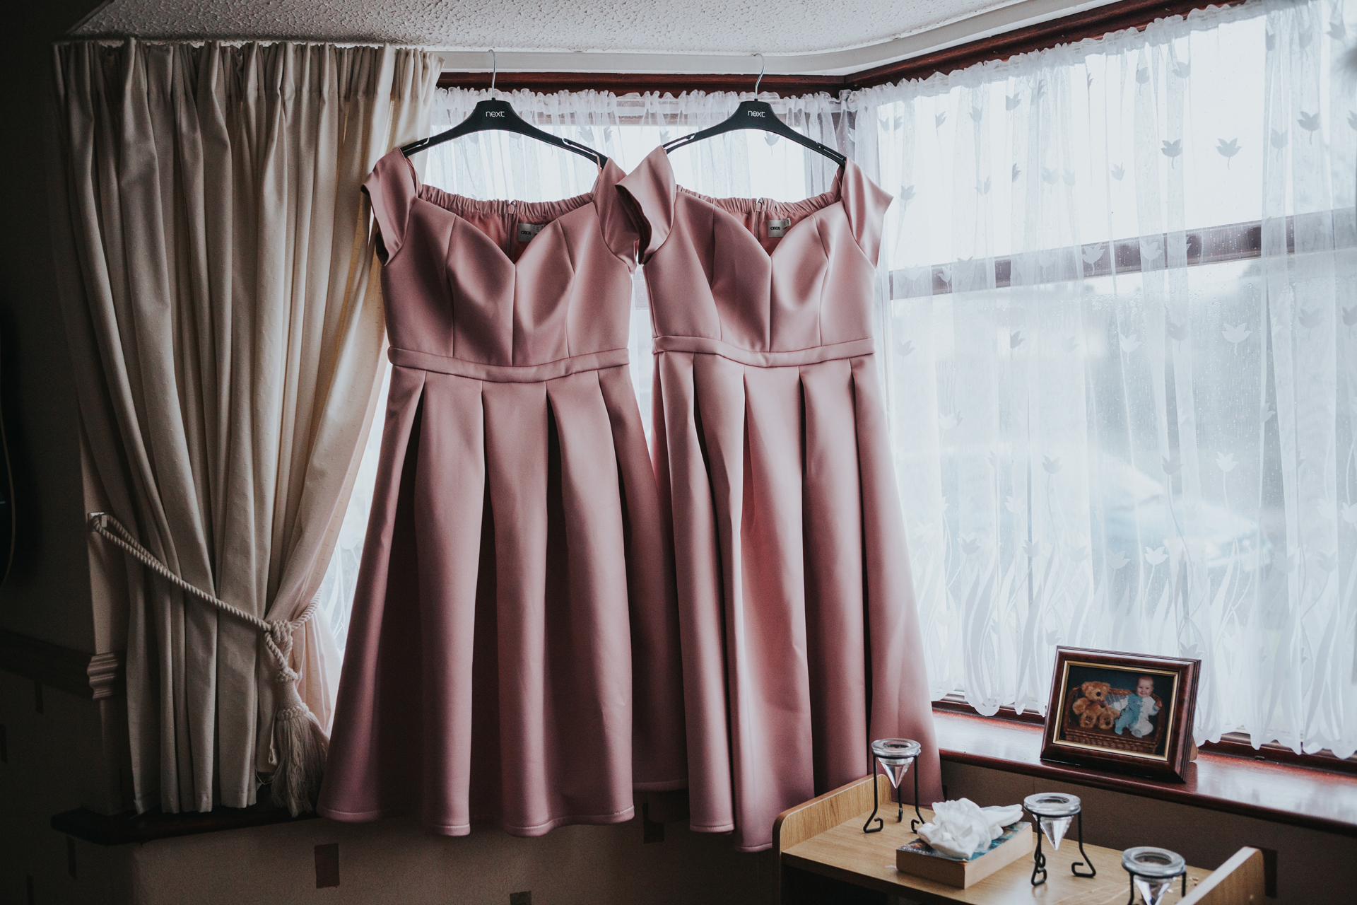
[[[273,715],[273,745],[278,767],[273,773],[273,803],[278,807],[286,807],[293,817],[301,811],[315,810],[330,739],[326,738],[320,720],[297,692],[299,674],[292,668],[290,658],[292,635],[316,615],[320,593],[318,592],[311,598],[311,602],[296,619],[259,619],[174,574],[155,554],[142,547],[121,521],[109,513],[90,513],[88,524],[92,533],[121,547],[171,585],[212,604],[224,613],[250,623],[263,634],[265,647],[278,661],[275,680],[280,695],[278,708]]]

